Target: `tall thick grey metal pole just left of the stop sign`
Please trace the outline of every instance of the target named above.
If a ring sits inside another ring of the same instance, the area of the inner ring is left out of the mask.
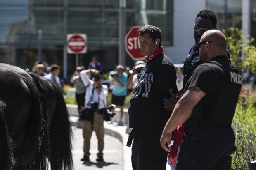
[[[125,65],[126,0],[119,0],[119,50],[118,64]]]

